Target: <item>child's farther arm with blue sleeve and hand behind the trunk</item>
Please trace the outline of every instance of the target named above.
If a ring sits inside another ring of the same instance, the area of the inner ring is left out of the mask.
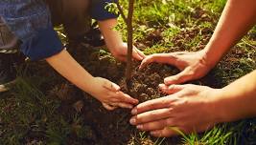
[[[99,22],[108,50],[119,60],[126,61],[128,46],[123,42],[121,34],[114,30],[118,24],[118,15],[105,8],[107,3],[116,3],[117,1],[118,0],[93,0],[91,3],[90,14],[92,18]],[[140,52],[135,47],[132,56],[138,60],[145,58],[144,53]]]

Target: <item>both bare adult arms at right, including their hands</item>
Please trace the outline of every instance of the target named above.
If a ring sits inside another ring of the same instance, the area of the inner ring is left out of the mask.
[[[175,65],[182,72],[159,85],[170,95],[139,104],[131,112],[134,116],[130,123],[154,136],[171,136],[177,135],[174,127],[190,134],[206,131],[221,122],[256,116],[256,71],[222,89],[174,85],[208,73],[256,23],[255,17],[255,0],[229,0],[203,51],[153,54],[144,59],[142,67],[160,62]]]

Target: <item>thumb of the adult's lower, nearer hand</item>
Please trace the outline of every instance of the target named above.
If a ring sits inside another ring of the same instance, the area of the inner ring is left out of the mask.
[[[159,89],[163,93],[173,94],[177,93],[185,88],[185,85],[165,85],[165,84],[159,84]]]

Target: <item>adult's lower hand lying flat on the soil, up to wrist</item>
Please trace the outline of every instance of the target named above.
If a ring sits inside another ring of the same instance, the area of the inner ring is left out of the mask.
[[[175,129],[185,134],[203,132],[218,123],[213,94],[219,90],[196,85],[161,84],[165,93],[174,93],[139,104],[131,114],[132,125],[154,136],[178,135]],[[211,96],[210,96],[211,95]]]

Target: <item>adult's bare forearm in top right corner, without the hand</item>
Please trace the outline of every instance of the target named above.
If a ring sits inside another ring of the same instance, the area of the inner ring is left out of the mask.
[[[212,38],[204,51],[215,66],[256,23],[255,0],[228,0]]]

